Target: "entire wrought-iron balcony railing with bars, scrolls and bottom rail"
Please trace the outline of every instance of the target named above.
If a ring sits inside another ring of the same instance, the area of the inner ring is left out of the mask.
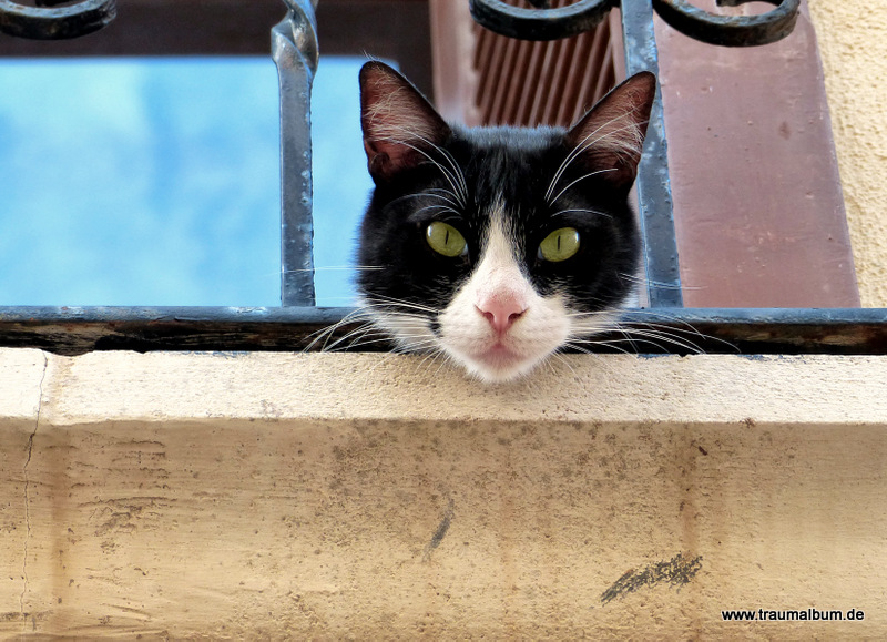
[[[469,1],[475,19],[499,33],[550,40],[593,28],[615,7],[622,10],[629,74],[657,72],[653,32],[657,12],[675,29],[721,45],[757,45],[788,34],[799,0],[766,0],[775,8],[751,17],[723,17],[686,0],[580,0],[534,9],[501,0]],[[737,6],[751,0],[717,0]],[[43,0],[51,6],[59,0]],[[317,69],[315,10],[318,0],[284,0],[286,16],[272,30],[281,86],[282,307],[6,307],[0,308],[0,345],[39,347],[63,354],[93,349],[302,349],[317,330],[344,319],[350,308],[317,308],[312,258],[310,91]],[[14,4],[14,7],[12,7]],[[98,9],[104,13],[96,17]],[[91,16],[73,18],[78,10]],[[55,13],[53,13],[55,12]],[[92,13],[89,13],[92,12]],[[85,0],[64,9],[30,8],[0,0],[0,31],[29,38],[71,38],[113,19],[113,0]],[[52,27],[53,16],[62,27]],[[47,21],[50,22],[47,22]],[[35,27],[37,26],[37,27]],[[79,26],[79,27],[78,27]],[[34,31],[34,29],[37,31]],[[37,33],[34,35],[34,33]],[[54,33],[54,35],[48,35]],[[887,354],[884,309],[687,309],[682,307],[679,256],[672,215],[662,102],[657,95],[638,177],[640,221],[650,310],[628,310],[625,322],[674,328],[692,335],[670,351]],[[349,332],[341,324],[338,334]],[[335,335],[334,335],[335,336]],[[651,346],[651,351],[657,351]],[[377,346],[384,349],[384,346]]]

